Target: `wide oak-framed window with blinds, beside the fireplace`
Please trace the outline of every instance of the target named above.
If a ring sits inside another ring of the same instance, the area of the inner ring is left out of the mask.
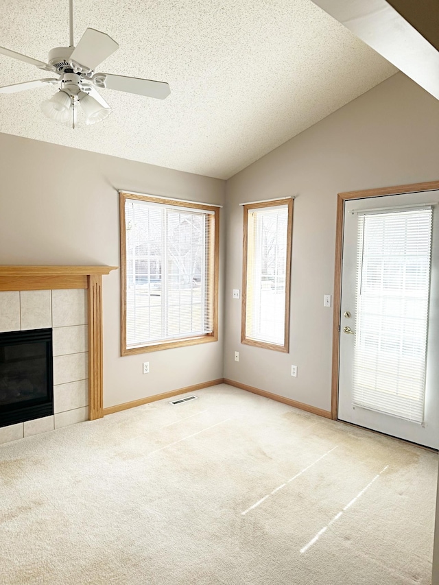
[[[213,206],[121,193],[121,353],[217,340]]]

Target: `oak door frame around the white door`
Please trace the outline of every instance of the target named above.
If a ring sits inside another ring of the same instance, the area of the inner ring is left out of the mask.
[[[331,381],[331,417],[338,420],[338,383],[340,364],[340,314],[342,300],[342,259],[344,235],[344,202],[351,199],[384,197],[385,195],[401,195],[403,193],[425,193],[437,191],[439,181],[396,185],[395,187],[381,187],[379,189],[365,189],[363,191],[346,191],[337,194],[337,222],[335,229],[335,270],[333,296],[333,330],[332,330],[332,381]]]

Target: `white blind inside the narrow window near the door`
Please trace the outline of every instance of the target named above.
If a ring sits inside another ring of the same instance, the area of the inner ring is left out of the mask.
[[[285,343],[288,206],[248,209],[246,338]]]

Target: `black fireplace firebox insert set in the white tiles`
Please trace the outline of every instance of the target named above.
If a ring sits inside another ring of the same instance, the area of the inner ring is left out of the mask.
[[[54,414],[52,330],[0,333],[0,427]]]

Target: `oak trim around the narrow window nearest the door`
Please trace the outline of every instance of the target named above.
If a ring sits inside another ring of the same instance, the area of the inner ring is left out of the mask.
[[[287,260],[285,267],[285,334],[284,344],[276,345],[268,342],[260,342],[246,337],[246,316],[247,316],[247,254],[248,254],[248,210],[263,207],[274,207],[277,205],[287,205],[288,222],[287,222]],[[242,266],[242,304],[241,304],[241,344],[271,349],[283,353],[289,353],[289,306],[291,298],[291,256],[292,256],[292,233],[293,233],[293,199],[278,199],[270,202],[251,203],[244,205],[244,250]]]

